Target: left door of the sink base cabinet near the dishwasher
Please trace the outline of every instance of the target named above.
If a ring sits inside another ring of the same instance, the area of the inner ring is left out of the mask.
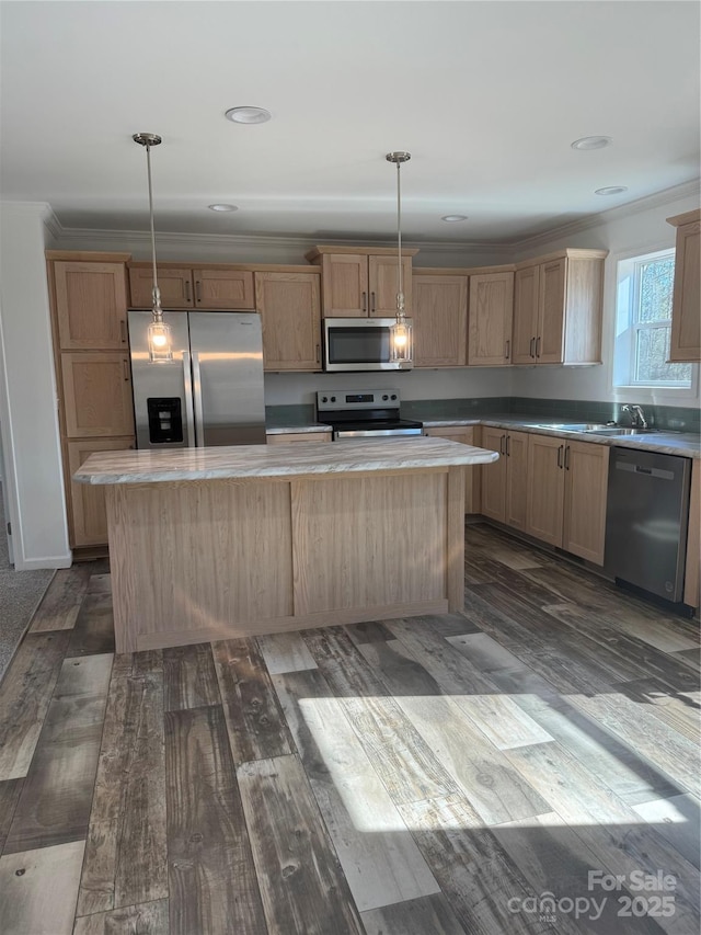
[[[552,546],[562,546],[565,441],[529,436],[526,532]]]

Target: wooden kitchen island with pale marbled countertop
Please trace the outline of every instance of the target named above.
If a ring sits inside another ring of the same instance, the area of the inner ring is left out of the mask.
[[[463,606],[463,466],[443,438],[125,451],[105,484],[117,652]]]

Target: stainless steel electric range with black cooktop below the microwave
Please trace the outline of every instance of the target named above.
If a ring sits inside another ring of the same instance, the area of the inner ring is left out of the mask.
[[[317,419],[333,429],[334,442],[348,438],[423,435],[421,422],[400,419],[398,389],[332,389],[317,394]]]

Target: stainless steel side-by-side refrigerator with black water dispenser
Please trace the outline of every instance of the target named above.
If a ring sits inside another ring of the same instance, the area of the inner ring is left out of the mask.
[[[264,445],[263,342],[254,311],[165,311],[172,363],[149,363],[150,311],[129,311],[137,448]]]

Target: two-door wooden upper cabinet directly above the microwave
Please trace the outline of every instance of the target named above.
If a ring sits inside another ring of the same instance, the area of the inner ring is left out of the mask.
[[[402,251],[404,310],[412,316],[412,256]],[[314,247],[304,254],[321,266],[324,318],[392,318],[397,313],[399,263],[394,248]]]

